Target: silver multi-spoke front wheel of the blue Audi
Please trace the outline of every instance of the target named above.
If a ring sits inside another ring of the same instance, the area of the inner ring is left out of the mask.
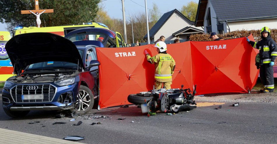
[[[77,111],[85,111],[90,107],[90,95],[87,91],[80,90],[78,94],[78,99],[76,102],[76,110]]]

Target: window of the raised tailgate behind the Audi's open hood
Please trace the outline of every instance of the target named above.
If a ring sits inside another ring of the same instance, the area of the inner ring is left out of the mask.
[[[94,40],[104,43],[107,38],[107,35],[103,33],[78,33],[76,35],[71,35],[67,39],[71,40],[72,42],[76,41],[83,41],[83,40]]]

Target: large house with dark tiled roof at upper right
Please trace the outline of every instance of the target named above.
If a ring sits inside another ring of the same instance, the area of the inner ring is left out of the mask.
[[[205,33],[277,28],[276,0],[199,0],[196,27]]]

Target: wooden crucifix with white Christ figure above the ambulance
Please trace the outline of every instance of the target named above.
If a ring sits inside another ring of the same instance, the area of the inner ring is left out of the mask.
[[[36,26],[39,28],[41,25],[40,15],[42,13],[52,13],[53,9],[40,10],[38,7],[38,0],[35,0],[35,10],[21,10],[21,14],[34,14],[36,16]]]

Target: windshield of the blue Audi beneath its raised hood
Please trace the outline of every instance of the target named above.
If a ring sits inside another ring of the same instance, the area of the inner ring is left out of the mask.
[[[77,70],[77,64],[71,62],[38,62],[30,64],[26,71],[30,70]]]

